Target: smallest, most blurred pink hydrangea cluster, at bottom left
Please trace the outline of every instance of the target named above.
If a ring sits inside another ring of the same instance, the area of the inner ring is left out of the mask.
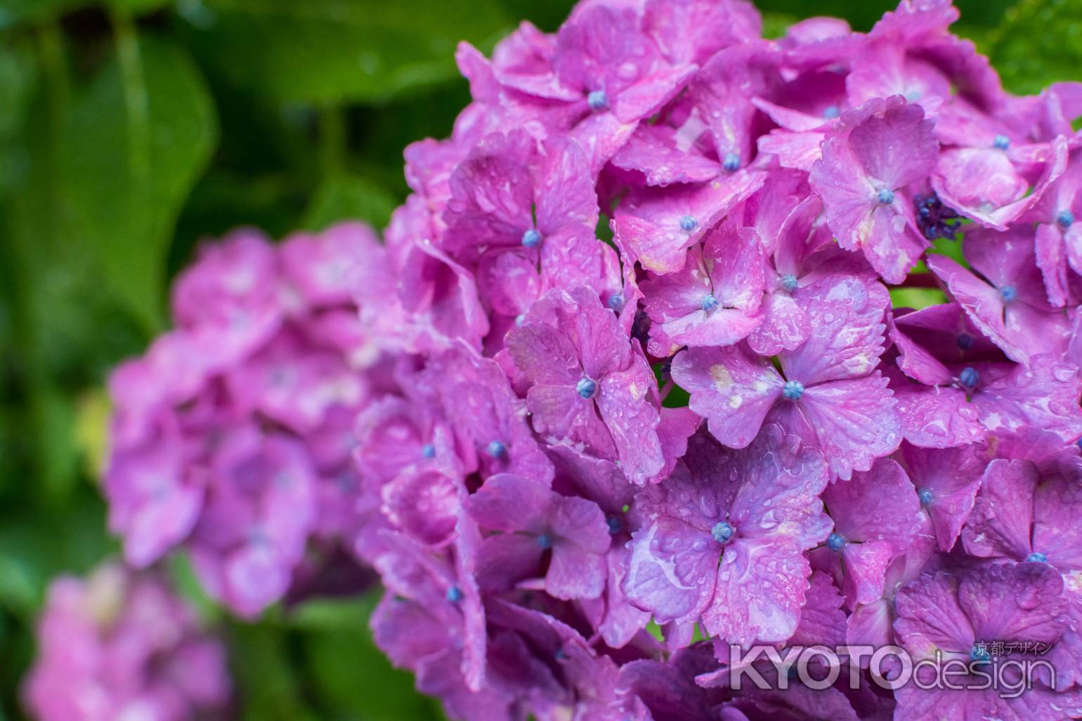
[[[228,718],[225,647],[153,572],[53,580],[38,644],[24,691],[40,721]]]

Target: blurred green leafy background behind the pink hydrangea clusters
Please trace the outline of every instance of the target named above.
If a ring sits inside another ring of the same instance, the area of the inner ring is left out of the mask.
[[[888,0],[762,0],[871,27]],[[1008,89],[1082,67],[1082,0],[959,0],[956,29]],[[275,237],[382,226],[401,149],[469,101],[456,42],[483,50],[570,0],[0,0],[0,721],[50,576],[116,552],[96,490],[108,369],[167,323],[170,278],[238,225]],[[245,718],[426,719],[372,645],[374,603],[308,602],[225,624]]]

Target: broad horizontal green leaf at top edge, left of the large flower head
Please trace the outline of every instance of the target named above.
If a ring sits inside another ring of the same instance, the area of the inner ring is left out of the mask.
[[[194,46],[237,88],[287,102],[382,103],[457,76],[458,41],[512,27],[497,0],[187,0]],[[238,62],[243,58],[243,62]]]

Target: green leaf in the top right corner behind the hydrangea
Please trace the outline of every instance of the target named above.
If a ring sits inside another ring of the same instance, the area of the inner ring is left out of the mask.
[[[1020,0],[988,41],[992,65],[1015,93],[1078,80],[1082,68],[1082,2]]]

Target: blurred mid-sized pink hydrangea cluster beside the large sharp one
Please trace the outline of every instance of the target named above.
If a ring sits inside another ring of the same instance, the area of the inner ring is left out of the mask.
[[[375,235],[342,224],[273,245],[252,230],[207,244],[177,280],[176,328],[118,368],[103,489],[124,559],[183,547],[241,616],[357,534],[357,412],[379,351],[353,301]]]

